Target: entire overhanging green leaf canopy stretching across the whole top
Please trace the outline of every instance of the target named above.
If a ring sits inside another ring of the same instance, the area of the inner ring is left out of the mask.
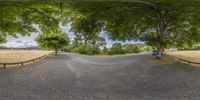
[[[94,43],[106,31],[113,40],[146,41],[160,52],[200,42],[199,5],[199,0],[1,1],[0,42],[36,31],[33,24],[45,32],[71,23],[86,42]]]

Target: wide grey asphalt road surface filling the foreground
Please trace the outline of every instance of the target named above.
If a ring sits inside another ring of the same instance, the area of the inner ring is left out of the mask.
[[[200,68],[148,57],[63,54],[0,68],[0,100],[200,100]]]

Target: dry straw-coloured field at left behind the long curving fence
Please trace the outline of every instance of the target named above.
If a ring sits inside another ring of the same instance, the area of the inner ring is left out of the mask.
[[[40,50],[0,50],[0,63],[13,63],[32,60],[52,51]]]

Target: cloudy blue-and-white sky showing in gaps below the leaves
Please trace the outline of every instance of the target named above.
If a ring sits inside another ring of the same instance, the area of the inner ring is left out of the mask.
[[[27,36],[21,36],[21,35],[17,35],[16,37],[12,37],[12,36],[7,36],[6,40],[7,42],[3,44],[3,46],[6,47],[14,47],[14,48],[27,48],[27,47],[36,47],[37,42],[35,41],[35,38],[38,36],[38,34],[40,34],[40,30],[39,27],[37,25],[33,25],[34,28],[38,29],[38,33],[30,33],[30,35]],[[70,24],[68,24],[67,26],[62,26],[60,25],[60,28],[62,29],[63,32],[65,32],[66,34],[68,34],[69,38],[71,41],[73,41],[74,39],[74,33],[70,31]],[[135,44],[135,43],[143,43],[143,42],[139,42],[139,41],[112,41],[111,39],[109,39],[109,36],[105,33],[105,32],[100,32],[100,35],[102,37],[105,38],[107,45],[107,48],[112,47],[112,45],[116,42],[120,42],[122,43],[122,45],[124,44]]]

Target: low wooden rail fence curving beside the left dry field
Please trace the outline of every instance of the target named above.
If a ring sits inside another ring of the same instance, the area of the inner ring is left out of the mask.
[[[14,63],[0,63],[0,65],[3,65],[4,68],[6,68],[7,65],[21,65],[21,66],[24,66],[25,63],[29,63],[29,62],[35,62],[37,60],[40,60],[42,58],[45,58],[47,57],[49,54],[47,55],[44,55],[44,56],[41,56],[41,57],[38,57],[38,58],[35,58],[35,59],[32,59],[32,60],[27,60],[27,61],[22,61],[22,62],[14,62]]]

